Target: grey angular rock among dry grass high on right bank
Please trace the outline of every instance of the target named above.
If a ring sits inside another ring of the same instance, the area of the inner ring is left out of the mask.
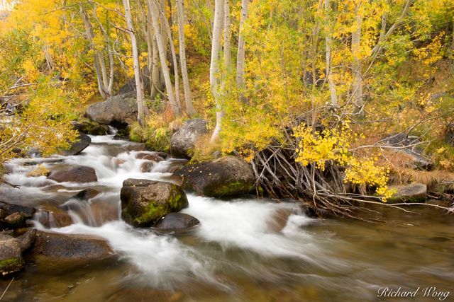
[[[433,162],[423,155],[421,149],[419,149],[419,143],[421,140],[416,136],[407,136],[404,133],[393,134],[389,137],[382,139],[385,146],[394,147],[406,147],[403,149],[396,149],[394,152],[404,153],[406,156],[411,158],[412,163],[409,168],[419,170],[431,170],[433,168]]]

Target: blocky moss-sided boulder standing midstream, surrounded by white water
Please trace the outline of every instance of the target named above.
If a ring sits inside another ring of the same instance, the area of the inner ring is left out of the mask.
[[[120,197],[121,216],[133,226],[153,226],[162,216],[189,205],[182,187],[153,180],[125,180]]]

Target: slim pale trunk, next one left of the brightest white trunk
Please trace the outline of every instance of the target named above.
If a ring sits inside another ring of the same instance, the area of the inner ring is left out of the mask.
[[[190,117],[194,115],[195,110],[192,105],[191,87],[189,86],[189,76],[187,75],[187,64],[186,64],[186,43],[184,41],[184,0],[177,0],[177,13],[178,13],[178,41],[179,41],[179,64],[182,69],[182,79],[184,88],[184,102],[186,104],[186,110]]]

